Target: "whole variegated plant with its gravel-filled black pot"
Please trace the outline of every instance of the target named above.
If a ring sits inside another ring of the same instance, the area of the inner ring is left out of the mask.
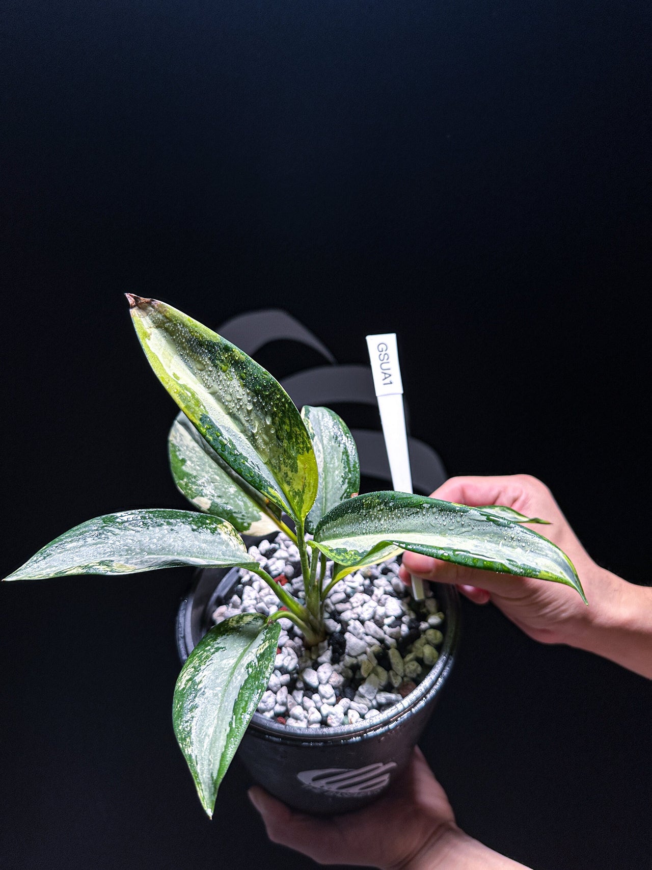
[[[170,465],[199,512],[90,519],[6,579],[235,569],[206,572],[222,596],[212,598],[216,625],[201,637],[181,623],[190,654],[173,722],[204,809],[212,814],[252,718],[243,754],[263,785],[309,812],[359,806],[407,763],[456,642],[455,593],[442,590],[442,611],[432,597],[411,601],[396,556],[556,581],[584,598],[575,568],[522,525],[542,520],[507,507],[358,495],[356,445],[334,412],[300,413],[235,345],[170,305],[128,299],[150,365],[181,409]]]

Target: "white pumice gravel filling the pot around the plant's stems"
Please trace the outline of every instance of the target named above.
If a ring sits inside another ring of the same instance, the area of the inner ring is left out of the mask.
[[[303,599],[299,551],[283,532],[249,547],[249,554]],[[327,576],[331,568],[329,562]],[[327,639],[318,646],[303,646],[302,632],[279,619],[275,668],[258,713],[291,727],[336,728],[374,719],[416,688],[439,656],[444,614],[429,588],[424,601],[413,601],[397,574],[398,564],[385,562],[338,583],[324,602]],[[269,586],[240,569],[213,621],[242,612],[268,615],[279,606]]]

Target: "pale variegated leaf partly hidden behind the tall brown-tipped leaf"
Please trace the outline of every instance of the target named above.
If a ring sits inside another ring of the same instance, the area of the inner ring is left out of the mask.
[[[183,412],[170,429],[168,455],[177,489],[200,511],[226,519],[241,534],[278,531],[271,515],[280,519],[280,509],[238,477]]]

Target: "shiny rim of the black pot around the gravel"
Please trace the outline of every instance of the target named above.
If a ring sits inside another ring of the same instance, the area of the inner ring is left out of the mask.
[[[222,585],[230,574],[234,575],[233,579],[235,580],[237,572],[239,572],[237,567],[199,569],[196,571],[190,591],[183,598],[176,617],[176,646],[182,661],[188,657],[195,646],[190,632],[190,615],[196,588],[202,579],[203,572],[206,570],[221,575],[216,579],[213,595],[215,595],[217,586]],[[403,719],[406,713],[417,713],[421,710],[440,691],[444,680],[448,677],[449,671],[455,661],[460,637],[460,598],[455,586],[441,583],[435,583],[433,586],[436,590],[436,599],[445,603],[445,606],[442,607],[442,611],[445,614],[445,631],[442,646],[439,650],[439,657],[428,675],[403,700],[390,706],[385,713],[381,713],[372,719],[361,719],[359,723],[356,722],[354,725],[342,725],[335,728],[289,728],[280,722],[276,722],[274,719],[265,718],[262,713],[254,713],[249,722],[249,729],[256,733],[256,736],[264,737],[266,740],[275,740],[279,743],[291,743],[293,745],[303,744],[310,746],[330,742],[355,743],[368,737],[376,736],[378,732],[400,726],[401,719]]]

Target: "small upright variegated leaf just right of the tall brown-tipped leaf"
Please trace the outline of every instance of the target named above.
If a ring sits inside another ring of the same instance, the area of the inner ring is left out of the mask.
[[[360,461],[349,427],[336,412],[303,405],[301,416],[319,472],[316,499],[306,518],[306,531],[314,532],[324,514],[360,491]]]

